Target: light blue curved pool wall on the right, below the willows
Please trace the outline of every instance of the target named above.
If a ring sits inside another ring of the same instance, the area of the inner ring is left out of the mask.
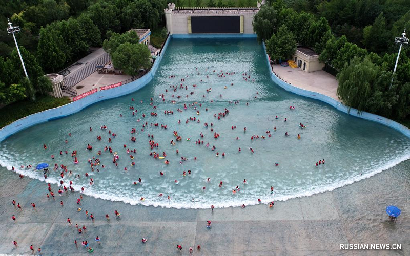
[[[281,88],[283,88],[284,90],[288,91],[288,92],[292,92],[301,96],[305,96],[308,98],[312,98],[312,99],[317,99],[320,101],[323,101],[331,106],[333,106],[334,108],[336,108],[337,110],[344,112],[348,115],[351,116],[355,116],[355,117],[359,117],[365,120],[369,120],[369,121],[373,121],[373,122],[377,122],[380,124],[383,124],[385,126],[391,127],[397,131],[399,131],[400,133],[402,133],[403,135],[407,136],[410,138],[410,129],[408,129],[406,126],[393,121],[391,119],[382,117],[382,116],[378,116],[375,114],[371,114],[368,112],[361,112],[360,114],[357,113],[357,109],[349,109],[348,106],[344,105],[343,103],[320,93],[316,93],[316,92],[312,92],[312,91],[308,91],[308,90],[304,90],[301,88],[297,88],[295,86],[292,86],[291,84],[283,81],[282,79],[280,79],[279,77],[277,77],[271,68],[271,64],[269,63],[269,56],[268,54],[266,54],[266,46],[263,42],[263,49],[265,51],[265,55],[266,55],[266,59],[267,59],[267,63],[268,63],[268,67],[269,67],[269,71],[271,74],[271,78],[272,80],[277,83]]]

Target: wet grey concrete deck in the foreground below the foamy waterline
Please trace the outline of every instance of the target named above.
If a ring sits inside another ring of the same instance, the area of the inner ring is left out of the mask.
[[[406,169],[410,161],[400,163]],[[79,193],[46,198],[47,183],[0,168],[0,254],[88,255],[88,240],[96,255],[409,255],[410,211],[408,180],[389,169],[372,178],[311,197],[242,208],[174,209],[129,205],[85,196],[77,212]],[[388,193],[386,193],[388,191]],[[11,200],[22,205],[15,209]],[[59,201],[64,201],[64,207]],[[256,199],[255,199],[256,200]],[[37,211],[30,205],[36,204]],[[386,205],[402,209],[397,223],[388,221]],[[85,211],[95,216],[87,219]],[[115,219],[114,210],[121,213]],[[107,222],[105,215],[110,215]],[[15,215],[16,223],[11,216]],[[72,226],[66,222],[70,217]],[[206,228],[206,221],[212,228]],[[75,224],[85,225],[79,234]],[[101,244],[97,245],[95,237]],[[148,238],[146,244],[141,239]],[[18,243],[15,248],[12,241]],[[74,245],[78,242],[78,248]],[[401,250],[340,250],[340,244],[398,243]],[[176,245],[182,246],[182,251]],[[196,246],[201,251],[196,252]]]

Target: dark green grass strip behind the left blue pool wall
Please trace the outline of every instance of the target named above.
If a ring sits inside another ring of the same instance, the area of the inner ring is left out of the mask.
[[[67,97],[56,99],[52,96],[42,96],[36,102],[19,101],[0,109],[0,128],[31,114],[56,108],[70,103]]]

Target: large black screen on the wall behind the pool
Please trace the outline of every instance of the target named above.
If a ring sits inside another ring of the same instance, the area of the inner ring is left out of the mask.
[[[240,33],[240,16],[191,16],[193,34]]]

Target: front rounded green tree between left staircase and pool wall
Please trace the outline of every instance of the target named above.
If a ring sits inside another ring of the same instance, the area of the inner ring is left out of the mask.
[[[112,53],[111,59],[115,68],[135,76],[141,67],[149,68],[151,53],[146,45],[125,42]]]

